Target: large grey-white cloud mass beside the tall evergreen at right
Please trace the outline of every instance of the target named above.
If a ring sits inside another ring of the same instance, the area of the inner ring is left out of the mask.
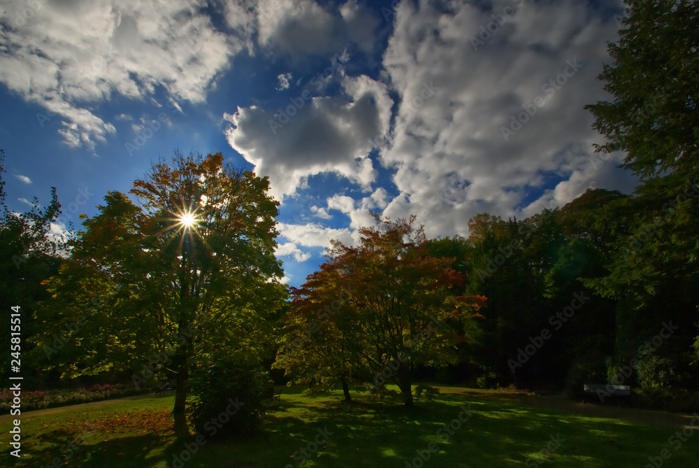
[[[488,26],[515,3],[503,24]],[[612,163],[589,164],[600,137],[583,106],[606,97],[596,76],[616,37],[616,22],[580,1],[401,2],[383,57],[401,98],[377,141],[400,192],[385,213],[418,214],[428,235],[465,235],[476,213],[531,213],[593,180],[633,185]],[[562,181],[546,192],[552,178]]]

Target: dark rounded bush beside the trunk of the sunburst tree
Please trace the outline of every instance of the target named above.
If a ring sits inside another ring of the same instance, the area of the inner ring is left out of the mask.
[[[190,380],[188,416],[197,434],[227,439],[259,431],[272,400],[269,374],[258,364],[219,361],[194,369]]]

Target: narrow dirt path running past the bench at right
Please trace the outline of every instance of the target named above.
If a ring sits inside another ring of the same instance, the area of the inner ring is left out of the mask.
[[[668,411],[651,411],[648,409],[636,409],[622,406],[617,407],[613,403],[596,404],[575,402],[563,397],[540,397],[526,392],[509,392],[496,390],[475,390],[470,388],[440,387],[440,392],[456,393],[460,395],[473,395],[485,399],[500,400],[505,402],[519,402],[529,406],[545,409],[567,411],[569,413],[591,416],[596,418],[609,418],[663,427],[691,427],[691,422],[696,416],[691,414],[670,413]],[[694,420],[694,428],[699,425],[699,418]]]

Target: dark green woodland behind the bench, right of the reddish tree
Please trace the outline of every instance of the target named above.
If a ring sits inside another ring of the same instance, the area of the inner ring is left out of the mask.
[[[461,372],[482,385],[566,389],[632,385],[642,399],[684,399],[698,390],[696,184],[649,201],[588,190],[526,220],[478,215],[468,239],[429,241],[454,255],[467,293],[488,297]],[[674,206],[673,208],[671,208]]]

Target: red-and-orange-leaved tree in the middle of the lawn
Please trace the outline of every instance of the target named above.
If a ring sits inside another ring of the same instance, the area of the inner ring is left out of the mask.
[[[485,298],[453,294],[463,275],[449,267],[454,258],[426,255],[415,216],[391,222],[375,214],[375,220],[376,227],[359,229],[359,246],[333,241],[326,267],[332,279],[308,290],[329,288],[326,298],[338,297],[340,285],[349,291],[329,320],[373,372],[375,385],[396,383],[412,406],[412,368],[454,360],[456,336]],[[303,301],[314,299],[311,293]]]

